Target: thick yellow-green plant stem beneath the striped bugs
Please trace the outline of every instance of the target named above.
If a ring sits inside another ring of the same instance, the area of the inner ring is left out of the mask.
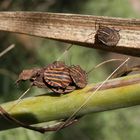
[[[90,84],[81,90],[65,95],[46,94],[23,99],[11,111],[16,101],[4,103],[2,107],[16,119],[36,124],[66,119],[94,92],[100,83]],[[140,105],[140,74],[109,80],[91,97],[76,116],[112,109]],[[0,130],[17,127],[0,117]]]

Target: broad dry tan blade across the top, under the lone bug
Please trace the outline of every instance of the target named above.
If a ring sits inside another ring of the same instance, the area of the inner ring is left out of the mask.
[[[99,24],[120,30],[117,46],[95,43]],[[0,12],[0,30],[140,57],[140,19],[46,12]]]

